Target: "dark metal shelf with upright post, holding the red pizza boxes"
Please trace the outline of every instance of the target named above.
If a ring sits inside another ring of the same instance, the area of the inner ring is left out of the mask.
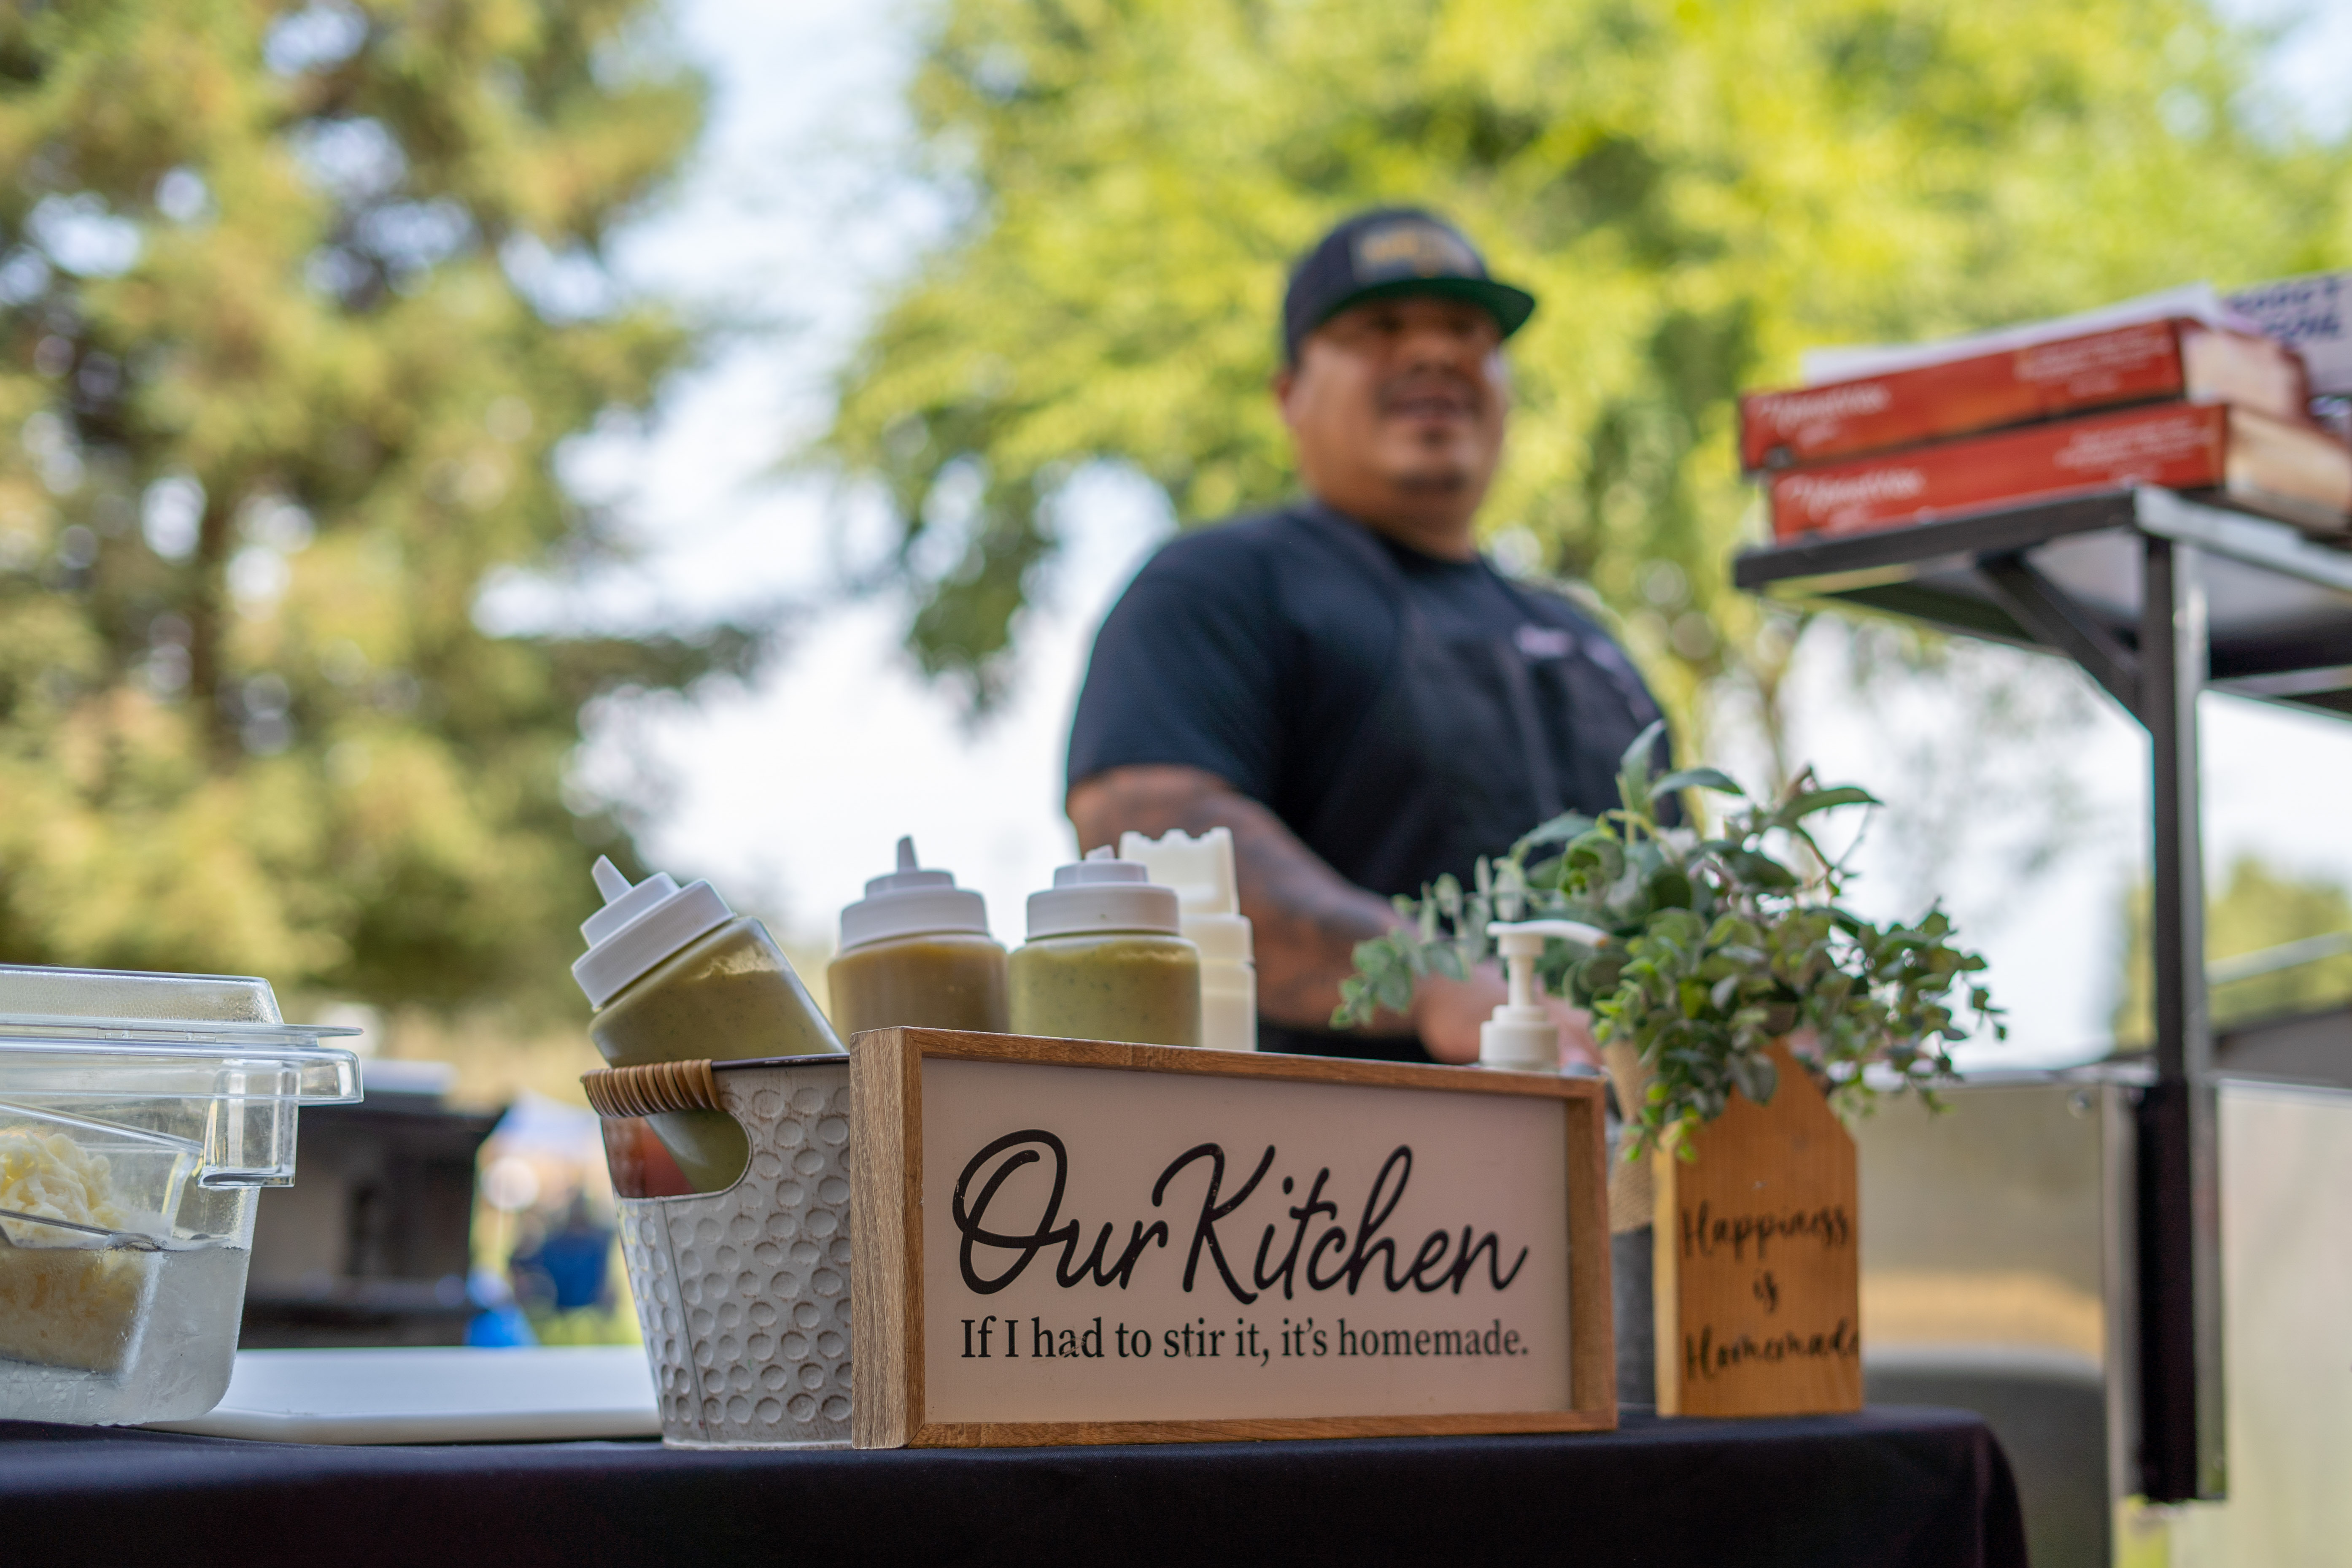
[[[2352,717],[2352,555],[2161,489],[1748,550],[1738,588],[2060,654],[2150,741],[2154,1079],[2138,1098],[2129,1490],[2227,1495],[2220,1164],[2204,978],[2197,696]],[[2122,1286],[2124,1281],[2119,1281]]]

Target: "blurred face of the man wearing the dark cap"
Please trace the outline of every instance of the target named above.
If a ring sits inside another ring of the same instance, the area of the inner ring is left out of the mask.
[[[1461,520],[1503,454],[1503,331],[1479,306],[1402,296],[1341,310],[1275,378],[1308,487],[1367,520]]]

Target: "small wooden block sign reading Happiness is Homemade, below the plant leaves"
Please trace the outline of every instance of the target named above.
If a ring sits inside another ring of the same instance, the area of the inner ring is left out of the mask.
[[[1733,1093],[1696,1164],[1653,1164],[1665,1415],[1863,1408],[1853,1135],[1785,1046],[1771,1060],[1771,1105]]]

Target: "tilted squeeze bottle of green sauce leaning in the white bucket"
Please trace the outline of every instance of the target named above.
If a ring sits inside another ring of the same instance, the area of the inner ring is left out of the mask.
[[[572,978],[588,992],[588,1037],[614,1067],[826,1056],[842,1041],[793,973],[776,938],[736,914],[708,882],[677,886],[668,872],[628,884],[609,858],[595,863],[604,907],[581,922],[588,952]],[[727,1112],[647,1117],[696,1192],[724,1192],[743,1173],[750,1143]]]

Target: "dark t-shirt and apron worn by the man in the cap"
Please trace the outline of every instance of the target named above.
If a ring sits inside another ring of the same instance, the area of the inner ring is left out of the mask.
[[[1477,856],[1548,816],[1616,806],[1618,757],[1656,717],[1628,658],[1559,595],[1308,501],[1185,534],[1136,574],[1094,644],[1070,783],[1204,769],[1357,886],[1421,893],[1442,872],[1468,882]]]

